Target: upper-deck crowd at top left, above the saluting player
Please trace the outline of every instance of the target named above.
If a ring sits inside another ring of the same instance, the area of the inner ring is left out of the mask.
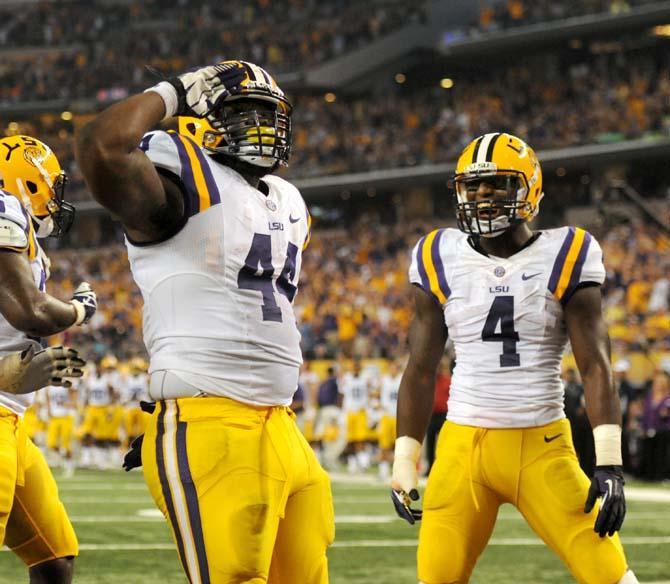
[[[422,2],[398,0],[255,0],[242,8],[203,0],[73,1],[0,9],[0,46],[51,49],[39,60],[0,52],[0,103],[140,91],[156,79],[147,66],[169,74],[229,58],[232,47],[274,74],[295,71],[423,19],[423,11]]]

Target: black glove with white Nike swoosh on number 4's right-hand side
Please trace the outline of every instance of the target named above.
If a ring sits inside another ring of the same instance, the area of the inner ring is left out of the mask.
[[[614,535],[621,529],[626,516],[626,497],[623,492],[623,471],[620,466],[596,466],[591,479],[589,495],[584,505],[584,513],[590,513],[598,497],[600,511],[593,527],[600,537]]]

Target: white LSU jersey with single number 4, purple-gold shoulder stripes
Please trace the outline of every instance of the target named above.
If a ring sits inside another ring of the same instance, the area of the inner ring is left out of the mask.
[[[459,230],[438,229],[415,246],[409,276],[441,305],[454,342],[449,420],[520,428],[564,417],[563,305],[580,285],[605,279],[595,238],[549,229],[503,259],[479,253]]]

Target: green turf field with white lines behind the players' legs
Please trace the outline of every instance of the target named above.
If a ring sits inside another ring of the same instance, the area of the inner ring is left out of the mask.
[[[184,583],[168,528],[138,472],[80,471],[58,477],[81,544],[79,584]],[[333,481],[337,536],[329,551],[334,584],[416,582],[418,530],[396,519],[383,485],[372,480]],[[670,487],[629,485],[623,541],[640,582],[670,584]],[[5,548],[0,582],[27,582],[21,562]],[[448,546],[444,550],[448,557]],[[504,506],[489,547],[477,565],[477,584],[571,582],[511,506]],[[295,584],[300,584],[296,582]]]

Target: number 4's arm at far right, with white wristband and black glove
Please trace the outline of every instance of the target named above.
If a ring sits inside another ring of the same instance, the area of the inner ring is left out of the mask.
[[[621,404],[610,367],[610,341],[602,315],[600,287],[577,289],[564,314],[596,447],[596,469],[584,512],[589,513],[596,499],[602,497],[594,530],[604,537],[621,528],[626,500],[621,468]]]

